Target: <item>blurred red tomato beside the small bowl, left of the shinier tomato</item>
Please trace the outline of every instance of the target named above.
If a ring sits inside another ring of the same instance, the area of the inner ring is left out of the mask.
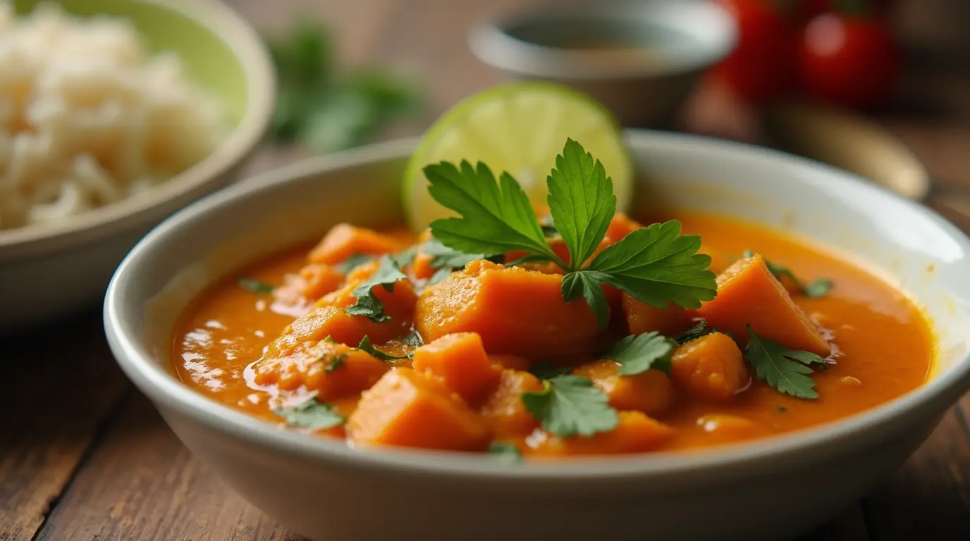
[[[737,23],[737,47],[715,66],[715,77],[739,97],[760,102],[789,90],[797,32],[777,0],[717,0]]]

